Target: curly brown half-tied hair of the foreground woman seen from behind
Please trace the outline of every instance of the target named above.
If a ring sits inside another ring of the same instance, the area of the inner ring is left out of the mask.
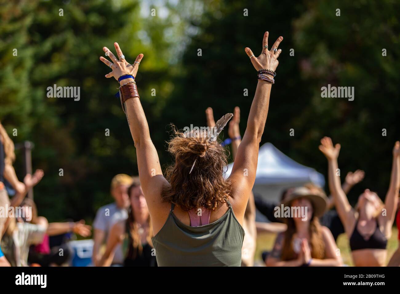
[[[231,184],[224,179],[228,154],[220,142],[208,142],[205,132],[187,137],[175,130],[175,136],[168,142],[168,151],[175,156],[175,163],[166,170],[165,178],[170,186],[162,191],[163,201],[175,203],[185,211],[202,206],[214,210],[226,202]]]

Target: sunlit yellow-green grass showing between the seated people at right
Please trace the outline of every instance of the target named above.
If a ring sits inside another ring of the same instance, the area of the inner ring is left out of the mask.
[[[397,240],[398,231],[397,228],[392,229],[392,236],[388,242],[388,258],[386,260],[386,264],[389,262],[390,258],[392,257],[394,251],[396,251],[398,247],[398,240]],[[257,236],[257,247],[256,247],[256,262],[262,262],[261,254],[263,251],[270,251],[274,246],[276,234],[258,234]],[[353,261],[351,258],[351,252],[349,247],[348,238],[346,234],[341,234],[338,237],[336,242],[338,244],[338,248],[340,249],[340,254],[342,255],[342,259],[344,264],[348,266],[353,266]]]

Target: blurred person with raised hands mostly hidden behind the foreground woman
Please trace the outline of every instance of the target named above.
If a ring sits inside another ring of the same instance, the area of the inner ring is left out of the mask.
[[[206,109],[207,126],[214,127],[214,113],[211,107]],[[240,108],[235,107],[232,120],[229,122],[228,136],[229,139],[224,144],[230,142],[232,145],[232,159],[235,160],[236,153],[242,137],[240,136]],[[229,144],[229,143],[228,143]],[[254,254],[256,253],[257,228],[256,228],[256,205],[254,204],[253,192],[250,192],[247,202],[246,211],[244,212],[244,239],[242,246],[242,266],[254,266]]]

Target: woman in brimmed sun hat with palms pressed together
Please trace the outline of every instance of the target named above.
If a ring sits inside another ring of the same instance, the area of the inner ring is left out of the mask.
[[[341,266],[332,233],[321,226],[328,198],[317,189],[294,188],[276,207],[288,228],[278,234],[267,266]],[[283,211],[282,211],[283,210]]]

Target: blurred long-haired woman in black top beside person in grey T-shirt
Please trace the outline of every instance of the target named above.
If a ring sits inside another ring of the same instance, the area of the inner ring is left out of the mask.
[[[98,266],[110,266],[118,244],[122,244],[124,250],[124,266],[157,266],[151,240],[153,229],[150,214],[139,177],[133,177],[128,194],[130,199],[128,219],[121,220],[112,227],[107,239],[106,250],[98,262]]]

